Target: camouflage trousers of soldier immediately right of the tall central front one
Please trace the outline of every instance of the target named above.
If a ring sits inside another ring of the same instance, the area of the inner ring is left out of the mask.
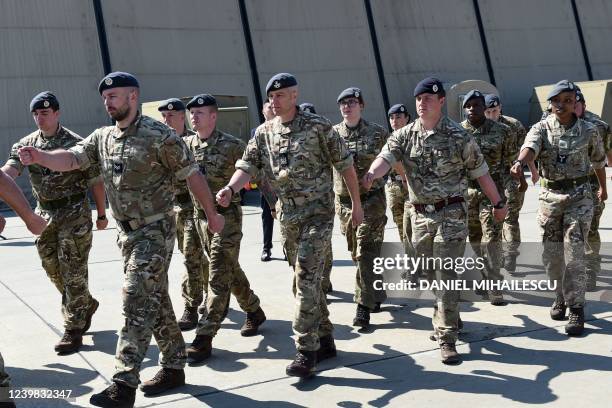
[[[380,256],[387,225],[385,192],[381,188],[362,194],[363,222],[353,228],[350,197],[336,196],[336,214],[340,231],[346,237],[348,250],[357,264],[354,301],[370,310],[387,299],[384,290],[374,289],[380,276],[374,273],[374,258]]]

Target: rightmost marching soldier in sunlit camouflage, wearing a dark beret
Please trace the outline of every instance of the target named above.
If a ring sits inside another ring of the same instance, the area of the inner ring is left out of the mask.
[[[557,82],[547,99],[552,104],[552,114],[531,127],[511,171],[520,176],[526,162],[539,159],[542,263],[550,279],[557,281],[550,316],[563,320],[569,307],[565,332],[573,336],[584,331],[584,243],[593,217],[589,173],[592,166],[600,185],[597,195],[605,201],[605,152],[595,126],[575,114],[573,82]]]

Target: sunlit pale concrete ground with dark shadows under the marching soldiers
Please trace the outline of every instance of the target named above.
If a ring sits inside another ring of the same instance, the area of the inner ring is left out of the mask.
[[[523,241],[539,241],[536,224],[538,187],[530,187],[521,213]],[[334,292],[329,296],[338,357],[318,366],[314,378],[300,381],[285,375],[294,356],[291,322],[292,275],[278,242],[275,225],[273,261],[260,261],[261,218],[257,198],[244,207],[244,239],[240,261],[261,298],[268,320],[260,335],[243,338],[245,314],[232,300],[231,311],[213,342],[213,356],[186,368],[188,385],[176,392],[146,398],[138,407],[311,407],[340,406],[609,406],[612,374],[612,251],[602,250],[604,272],[598,291],[589,293],[586,332],[568,338],[565,322],[549,317],[551,300],[534,293],[516,293],[510,304],[463,302],[465,327],[458,343],[463,363],[445,366],[436,343],[429,340],[431,301],[390,299],[372,315],[372,330],[351,326],[355,267],[336,225],[333,236]],[[612,242],[612,217],[604,213],[602,241]],[[115,245],[114,223],[94,232],[90,254],[90,288],[100,300],[84,345],[77,354],[57,356],[53,345],[62,335],[60,295],[40,266],[33,237],[10,213],[0,240],[0,351],[14,390],[70,390],[70,401],[19,399],[18,406],[88,406],[89,396],[105,388],[113,374],[117,330],[121,327],[122,261]],[[336,223],[337,224],[337,223]],[[386,241],[398,241],[389,217]],[[526,244],[526,249],[534,247]],[[526,251],[528,252],[528,251]],[[541,273],[541,259],[523,254],[519,274]],[[175,251],[170,266],[170,294],[178,316],[182,255]],[[508,277],[510,278],[510,277]],[[608,300],[608,301],[606,301]],[[194,332],[184,333],[185,341]],[[141,377],[158,370],[158,348],[152,341]]]

